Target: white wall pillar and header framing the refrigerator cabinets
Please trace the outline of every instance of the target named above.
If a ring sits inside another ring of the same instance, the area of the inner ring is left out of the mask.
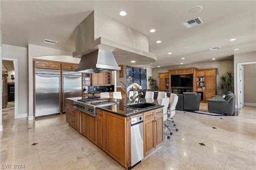
[[[54,56],[70,56],[70,61],[72,61],[72,52],[64,51],[59,49],[53,49],[48,47],[42,47],[38,45],[28,44],[28,120],[34,119],[33,117],[33,57],[38,56],[49,56],[48,60],[54,60],[61,57]],[[60,60],[61,61],[61,60]],[[65,60],[66,62],[66,60]]]

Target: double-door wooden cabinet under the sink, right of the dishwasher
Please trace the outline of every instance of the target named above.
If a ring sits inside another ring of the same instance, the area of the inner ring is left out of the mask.
[[[163,109],[143,113],[144,156],[160,146],[163,141]]]

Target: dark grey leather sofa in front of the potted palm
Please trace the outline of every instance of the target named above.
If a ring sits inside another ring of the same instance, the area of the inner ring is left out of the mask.
[[[236,106],[236,95],[229,93],[225,98],[212,98],[207,99],[208,111],[210,113],[221,113],[227,115],[233,115]]]

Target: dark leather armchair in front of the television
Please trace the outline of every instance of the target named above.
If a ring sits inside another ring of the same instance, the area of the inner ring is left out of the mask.
[[[176,110],[188,110],[188,111],[198,111],[201,94],[197,92],[184,92],[183,94],[178,94],[178,103],[176,105]]]

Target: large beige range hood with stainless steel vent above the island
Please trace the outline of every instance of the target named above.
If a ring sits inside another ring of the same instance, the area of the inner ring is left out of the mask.
[[[76,71],[108,72],[121,70],[118,64],[141,66],[156,62],[156,55],[148,52],[146,35],[96,11],[76,27],[75,39],[73,57],[81,59]]]

